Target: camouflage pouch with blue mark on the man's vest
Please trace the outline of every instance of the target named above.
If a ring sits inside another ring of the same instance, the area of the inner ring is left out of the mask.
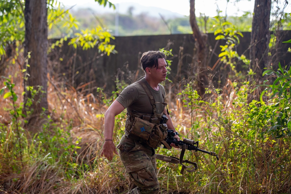
[[[129,133],[139,136],[144,140],[148,140],[154,126],[155,124],[143,120],[139,117],[136,117],[134,118],[134,122]]]

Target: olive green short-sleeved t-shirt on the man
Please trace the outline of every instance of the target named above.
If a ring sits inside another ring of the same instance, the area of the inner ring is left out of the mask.
[[[155,102],[164,102],[163,95],[165,95],[165,88],[159,84],[159,90],[154,90],[145,78],[142,79],[145,82],[146,86],[152,93],[152,96],[155,99]],[[131,85],[127,86],[122,90],[120,95],[116,100],[122,104],[124,108],[127,109],[127,112],[136,111],[138,113],[153,114],[152,104],[150,104],[150,99],[146,94],[143,87],[138,83],[134,82]],[[162,113],[164,111],[164,105],[161,103],[156,104],[157,113]]]

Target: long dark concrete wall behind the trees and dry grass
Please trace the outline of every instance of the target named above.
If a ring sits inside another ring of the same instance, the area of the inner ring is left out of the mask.
[[[291,31],[284,31],[281,34],[282,41],[291,39]],[[238,54],[245,54],[248,57],[251,33],[247,32],[243,35],[244,37],[240,38],[240,44],[236,49]],[[165,47],[172,49],[174,55],[168,58],[173,60],[170,79],[179,82],[184,78],[187,79],[189,74],[195,74],[195,67],[189,65],[196,52],[192,34],[116,37],[111,44],[116,45],[115,49],[118,53],[110,54],[110,56],[100,56],[97,48],[85,51],[82,48],[75,50],[64,44],[61,49],[56,49],[49,55],[52,60],[54,59],[50,64],[51,74],[55,79],[60,80],[65,76],[70,80],[68,85],[71,84],[74,88],[91,83],[84,86],[83,89],[94,92],[95,88],[102,87],[105,91],[112,91],[115,90],[116,75],[127,83],[144,75],[139,62],[143,52]],[[221,52],[219,45],[224,45],[224,42],[215,40],[214,34],[207,34],[207,46],[210,50],[207,62],[209,68],[212,68],[218,61],[218,54]],[[291,47],[291,44],[282,43],[279,49],[273,51],[270,60],[274,64],[278,64],[278,61],[282,65],[289,64],[291,54],[287,52],[288,47]],[[63,60],[59,61],[58,58]],[[229,72],[228,69],[228,66],[219,62],[210,73],[213,75],[214,81],[224,82]],[[237,70],[247,72],[248,69],[242,63],[238,63]]]

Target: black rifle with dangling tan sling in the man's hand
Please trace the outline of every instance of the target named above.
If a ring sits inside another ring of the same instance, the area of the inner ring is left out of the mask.
[[[183,160],[183,157],[184,157],[184,153],[185,153],[185,150],[188,149],[188,150],[195,150],[195,152],[199,151],[199,152],[203,152],[203,153],[206,153],[206,154],[209,154],[211,156],[215,156],[217,160],[219,160],[218,158],[218,155],[215,153],[215,152],[208,152],[206,150],[203,150],[203,149],[199,149],[198,148],[198,141],[194,141],[194,140],[191,140],[191,139],[186,139],[184,138],[183,140],[181,141],[177,141],[174,137],[173,137],[173,133],[174,133],[174,130],[171,130],[171,129],[168,129],[168,136],[167,136],[167,139],[165,141],[163,141],[163,144],[165,144],[165,142],[168,144],[168,145],[164,145],[163,148],[167,148],[168,147],[171,147],[171,143],[174,143],[175,145],[179,146],[180,149],[182,149],[181,151],[181,154],[180,154],[180,159],[176,158],[176,157],[173,157],[173,156],[163,156],[163,155],[160,155],[160,154],[155,154],[156,158],[159,159],[159,160],[162,160],[162,161],[166,161],[166,162],[170,162],[170,163],[174,163],[174,164],[178,164],[180,163],[182,165],[182,169],[181,169],[181,174],[184,173],[184,170],[186,170],[187,172],[194,172],[198,167],[197,167],[197,164],[195,162],[191,162],[191,161],[188,161],[188,160]],[[189,164],[192,164],[190,166],[186,166],[184,165],[183,163],[189,163]],[[188,170],[187,168],[192,168],[192,170]]]

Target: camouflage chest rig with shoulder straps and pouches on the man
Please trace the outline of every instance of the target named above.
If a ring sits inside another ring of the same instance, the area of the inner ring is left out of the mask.
[[[139,141],[140,143],[145,143],[152,148],[159,147],[162,143],[167,145],[167,125],[166,122],[168,118],[166,114],[162,111],[162,113],[157,113],[157,103],[161,103],[164,105],[163,110],[167,103],[165,103],[165,96],[163,96],[163,102],[155,102],[152,93],[145,85],[143,80],[137,81],[142,88],[145,90],[148,98],[150,99],[150,103],[152,105],[152,113],[153,114],[144,114],[138,113],[135,111],[127,112],[127,117],[129,122],[127,122],[125,128],[129,132],[129,138]],[[168,149],[171,149],[168,146]]]

